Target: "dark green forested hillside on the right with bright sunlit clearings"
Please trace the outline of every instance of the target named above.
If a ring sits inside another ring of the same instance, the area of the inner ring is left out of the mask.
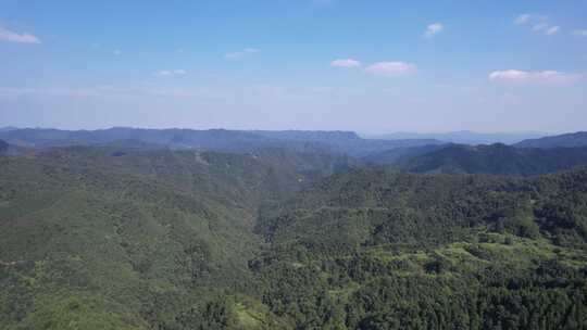
[[[587,327],[587,170],[357,169],[258,226],[263,302],[301,329]]]

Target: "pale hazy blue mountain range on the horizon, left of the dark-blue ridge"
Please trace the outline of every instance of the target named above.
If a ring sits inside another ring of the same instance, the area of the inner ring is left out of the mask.
[[[246,153],[263,148],[286,148],[302,152],[346,153],[364,156],[400,147],[440,143],[435,140],[371,140],[354,132],[327,131],[240,131],[226,129],[138,129],[99,130],[11,129],[0,139],[23,147],[124,145],[143,148],[198,149]]]

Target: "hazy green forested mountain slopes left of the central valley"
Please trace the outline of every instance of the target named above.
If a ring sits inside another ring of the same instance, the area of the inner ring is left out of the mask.
[[[0,325],[172,322],[251,282],[262,206],[347,166],[345,157],[273,150],[73,147],[0,157]]]

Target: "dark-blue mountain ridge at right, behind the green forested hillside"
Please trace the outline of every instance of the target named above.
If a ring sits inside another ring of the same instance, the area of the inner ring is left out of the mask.
[[[469,173],[495,175],[538,175],[587,165],[587,147],[519,149],[505,144],[446,148],[403,157],[396,163],[414,173]],[[394,151],[391,151],[394,153]],[[385,160],[385,158],[384,158]]]

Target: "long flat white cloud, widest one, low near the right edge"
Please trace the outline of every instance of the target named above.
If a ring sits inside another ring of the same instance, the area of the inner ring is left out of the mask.
[[[539,82],[539,84],[571,84],[579,80],[582,75],[557,71],[526,72],[520,69],[495,71],[489,74],[494,82]]]

